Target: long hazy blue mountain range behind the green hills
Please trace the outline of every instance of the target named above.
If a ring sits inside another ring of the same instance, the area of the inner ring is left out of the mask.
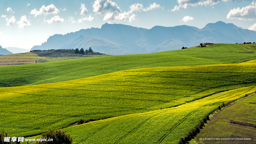
[[[104,24],[101,28],[81,29],[65,35],[50,36],[47,42],[31,50],[88,49],[110,54],[145,54],[184,47],[200,43],[243,43],[256,41],[256,31],[237,27],[232,23],[209,23],[199,29],[181,25],[174,27],[154,26],[151,29],[123,24]]]

